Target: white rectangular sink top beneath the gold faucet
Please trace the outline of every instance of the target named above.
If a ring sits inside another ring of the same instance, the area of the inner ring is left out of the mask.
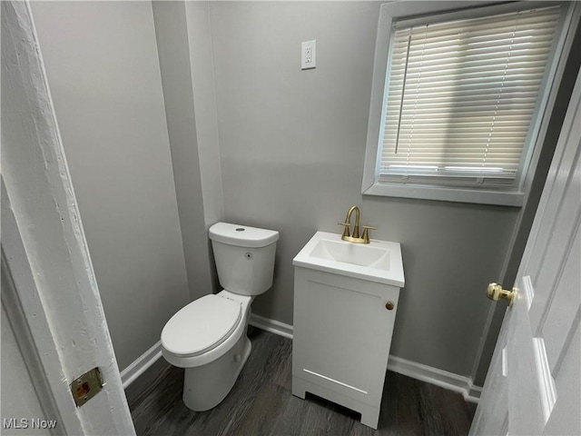
[[[399,287],[405,284],[401,246],[377,239],[370,243],[350,243],[341,240],[340,234],[317,232],[292,264],[370,282]]]

